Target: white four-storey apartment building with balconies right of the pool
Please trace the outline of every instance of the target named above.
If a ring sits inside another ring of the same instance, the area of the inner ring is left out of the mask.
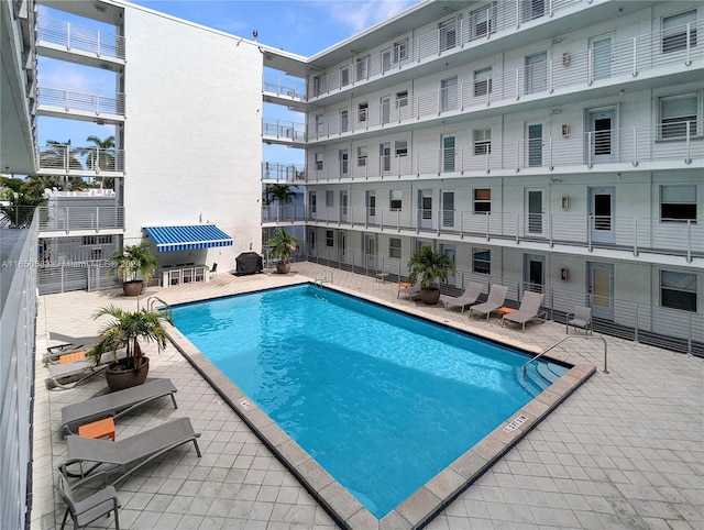
[[[404,277],[431,245],[443,289],[701,350],[703,26],[701,2],[421,2],[308,58],[308,258]]]

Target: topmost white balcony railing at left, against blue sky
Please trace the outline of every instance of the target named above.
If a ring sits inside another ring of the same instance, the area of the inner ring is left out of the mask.
[[[124,59],[125,41],[121,35],[106,33],[51,16],[38,18],[38,41],[69,49],[96,54],[98,57]]]

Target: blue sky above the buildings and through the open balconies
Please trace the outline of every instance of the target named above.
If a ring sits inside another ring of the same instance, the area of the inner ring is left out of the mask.
[[[133,0],[132,3],[185,19],[198,24],[232,33],[287,52],[310,56],[326,49],[355,33],[385,20],[419,0]],[[69,22],[89,25],[85,19],[40,5],[40,16],[61,18]],[[98,26],[99,27],[99,26]],[[128,42],[129,46],[129,42]],[[62,60],[40,58],[40,82],[90,88],[92,91],[113,93],[113,77],[96,68],[68,65]],[[129,87],[128,87],[129,101]],[[282,119],[284,110],[264,106],[264,118]],[[274,113],[275,115],[272,115]],[[295,117],[294,117],[295,118]],[[302,118],[299,119],[302,122]],[[40,117],[40,148],[48,140],[61,143],[70,141],[73,146],[86,145],[90,135],[106,139],[114,134],[114,128],[95,123],[75,122]],[[266,151],[268,150],[268,153]],[[264,146],[264,159],[270,162],[299,163],[300,150]],[[278,155],[280,153],[280,155]],[[274,156],[274,158],[273,158]],[[294,159],[295,158],[295,159]]]

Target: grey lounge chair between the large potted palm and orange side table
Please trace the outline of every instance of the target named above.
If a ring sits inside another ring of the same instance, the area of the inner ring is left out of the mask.
[[[174,408],[178,408],[175,394],[176,387],[170,379],[152,379],[143,385],[68,405],[62,409],[62,430],[74,433],[70,428],[76,423],[110,416],[117,419],[136,407],[165,396],[170,396]]]

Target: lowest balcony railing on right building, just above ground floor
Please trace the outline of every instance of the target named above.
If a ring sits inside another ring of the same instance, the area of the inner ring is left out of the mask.
[[[305,210],[305,211],[304,211]],[[475,213],[463,210],[402,208],[324,208],[285,205],[263,209],[263,222],[334,224],[338,227],[392,230],[426,234],[477,238],[483,241],[522,241],[587,249],[610,249],[684,256],[688,262],[704,257],[704,219],[675,221],[579,214],[518,212]]]

